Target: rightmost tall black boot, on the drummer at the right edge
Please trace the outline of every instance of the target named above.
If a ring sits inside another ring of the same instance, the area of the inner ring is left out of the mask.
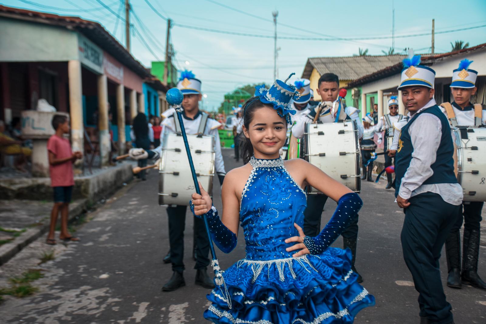
[[[480,237],[481,233],[479,230],[464,229],[464,256],[462,259],[461,280],[463,284],[486,290],[486,283],[479,277],[477,272]]]

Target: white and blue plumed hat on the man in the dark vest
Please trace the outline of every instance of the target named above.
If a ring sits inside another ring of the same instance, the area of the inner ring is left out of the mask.
[[[398,90],[410,86],[434,88],[435,71],[419,64],[420,55],[414,55],[414,51],[411,49],[408,57],[403,60],[403,70],[401,70],[401,82],[397,88]]]

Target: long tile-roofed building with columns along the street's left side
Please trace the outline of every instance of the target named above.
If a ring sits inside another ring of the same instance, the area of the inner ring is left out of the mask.
[[[109,113],[123,154],[137,112],[166,108],[160,98],[167,87],[97,22],[0,5],[0,30],[1,120],[46,99],[69,113],[73,151],[84,152],[89,139],[108,165]]]

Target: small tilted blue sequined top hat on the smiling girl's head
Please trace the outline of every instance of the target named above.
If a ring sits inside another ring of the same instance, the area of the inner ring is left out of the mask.
[[[292,124],[291,115],[295,115],[295,110],[289,109],[289,104],[294,96],[296,96],[296,99],[300,97],[300,93],[295,89],[295,86],[285,83],[294,74],[290,74],[285,81],[275,80],[270,89],[266,89],[264,84],[255,87],[255,96],[262,103],[272,105],[280,117],[285,117],[287,124]]]

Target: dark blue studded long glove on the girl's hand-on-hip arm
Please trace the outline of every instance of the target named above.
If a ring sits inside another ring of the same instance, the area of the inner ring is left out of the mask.
[[[363,206],[363,200],[356,193],[351,192],[341,197],[337,203],[331,219],[317,236],[305,236],[304,245],[311,254],[320,254],[341,235],[351,220],[358,215]]]

